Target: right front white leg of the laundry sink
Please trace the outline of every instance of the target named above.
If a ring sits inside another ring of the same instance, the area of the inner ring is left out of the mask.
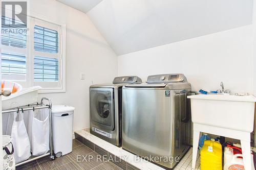
[[[251,169],[251,145],[249,141],[241,140],[241,147],[243,152],[243,161],[245,170],[254,170]]]

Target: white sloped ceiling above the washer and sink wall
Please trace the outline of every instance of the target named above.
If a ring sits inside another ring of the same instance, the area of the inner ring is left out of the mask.
[[[249,25],[252,5],[253,0],[103,0],[84,12],[122,55]]]

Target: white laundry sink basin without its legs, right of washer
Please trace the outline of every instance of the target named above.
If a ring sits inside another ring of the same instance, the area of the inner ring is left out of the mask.
[[[192,122],[244,132],[253,131],[253,95],[190,95]]]

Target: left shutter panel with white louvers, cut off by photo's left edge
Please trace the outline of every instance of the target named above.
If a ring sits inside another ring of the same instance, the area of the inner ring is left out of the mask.
[[[2,78],[25,81],[27,33],[18,32],[11,23],[11,18],[2,16]]]

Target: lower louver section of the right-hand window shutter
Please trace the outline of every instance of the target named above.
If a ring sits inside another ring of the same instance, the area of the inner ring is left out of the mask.
[[[34,80],[37,82],[58,81],[58,60],[55,58],[34,58]]]

